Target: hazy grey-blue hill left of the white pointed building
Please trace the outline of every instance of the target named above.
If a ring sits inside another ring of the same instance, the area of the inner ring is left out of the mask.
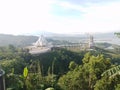
[[[38,39],[37,36],[25,36],[25,35],[7,35],[0,34],[0,46],[7,46],[12,44],[14,46],[28,46]]]

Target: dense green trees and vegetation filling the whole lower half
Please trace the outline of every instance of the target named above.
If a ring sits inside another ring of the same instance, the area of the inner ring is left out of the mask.
[[[0,47],[6,90],[119,90],[119,64],[119,53],[97,47],[79,52],[53,48],[40,55]]]

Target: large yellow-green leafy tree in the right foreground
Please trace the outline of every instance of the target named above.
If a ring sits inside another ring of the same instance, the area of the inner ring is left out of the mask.
[[[96,82],[101,79],[101,74],[110,66],[110,60],[103,55],[86,53],[83,65],[63,75],[59,79],[59,85],[64,90],[93,90]]]

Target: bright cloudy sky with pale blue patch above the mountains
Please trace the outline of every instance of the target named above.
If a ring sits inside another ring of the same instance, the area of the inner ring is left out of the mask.
[[[120,0],[0,0],[0,33],[120,31]]]

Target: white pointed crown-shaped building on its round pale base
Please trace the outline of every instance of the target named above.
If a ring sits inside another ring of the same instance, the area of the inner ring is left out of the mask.
[[[39,37],[39,39],[34,43],[37,47],[46,47],[48,45],[47,40],[44,38],[43,35]]]

